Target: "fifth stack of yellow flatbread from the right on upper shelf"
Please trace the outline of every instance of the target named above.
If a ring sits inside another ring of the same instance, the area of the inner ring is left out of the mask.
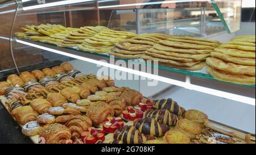
[[[104,29],[108,28],[101,26],[81,27],[77,31],[71,31],[57,46],[74,47],[81,45],[86,38],[92,37]]]

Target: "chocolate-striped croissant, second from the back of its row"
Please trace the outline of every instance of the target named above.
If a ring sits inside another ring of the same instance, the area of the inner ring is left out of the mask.
[[[178,117],[167,109],[148,109],[146,117],[155,118],[156,121],[167,126],[176,126],[178,120]]]

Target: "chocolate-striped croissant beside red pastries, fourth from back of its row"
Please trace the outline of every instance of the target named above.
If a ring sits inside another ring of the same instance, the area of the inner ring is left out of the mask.
[[[125,144],[145,143],[146,137],[134,126],[123,126],[114,132],[114,140],[121,140]]]

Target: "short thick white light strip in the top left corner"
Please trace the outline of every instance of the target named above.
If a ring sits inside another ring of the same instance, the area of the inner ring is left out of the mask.
[[[96,1],[96,0],[67,0],[67,1],[46,3],[46,4],[42,4],[42,5],[27,6],[27,7],[23,7],[22,9],[23,10],[34,10],[34,9],[37,9],[37,8],[61,6],[61,5],[70,5],[70,4],[81,3],[81,2],[90,2],[90,1]]]

